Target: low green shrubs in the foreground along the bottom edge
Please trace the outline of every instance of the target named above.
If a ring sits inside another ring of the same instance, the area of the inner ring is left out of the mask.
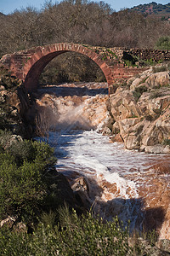
[[[61,209],[65,220],[61,227],[52,229],[39,224],[33,235],[26,233],[0,232],[1,255],[127,255],[127,230],[122,230],[118,220],[106,222],[92,214],[78,218],[76,212]],[[129,254],[132,255],[132,254]]]

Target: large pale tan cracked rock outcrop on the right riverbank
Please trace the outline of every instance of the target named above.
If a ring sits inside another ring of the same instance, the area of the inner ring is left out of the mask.
[[[153,73],[127,80],[112,94],[107,108],[111,114],[111,140],[127,149],[146,153],[170,153],[170,73]]]

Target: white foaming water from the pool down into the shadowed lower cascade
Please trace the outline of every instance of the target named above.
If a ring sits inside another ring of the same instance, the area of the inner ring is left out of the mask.
[[[133,167],[133,154],[124,151],[122,144],[110,143],[109,137],[97,131],[51,132],[49,143],[55,148],[59,172],[67,177],[71,172],[79,172],[83,177],[94,178],[102,187],[101,195],[89,195],[95,201],[95,210],[108,220],[118,215],[127,224],[131,219],[133,230],[143,215],[136,183],[125,177]],[[116,189],[108,190],[105,183],[111,183],[111,187],[113,184]]]

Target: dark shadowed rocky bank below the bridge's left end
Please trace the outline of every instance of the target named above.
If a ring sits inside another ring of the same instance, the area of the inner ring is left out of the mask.
[[[31,138],[31,100],[20,79],[0,67],[0,130]]]

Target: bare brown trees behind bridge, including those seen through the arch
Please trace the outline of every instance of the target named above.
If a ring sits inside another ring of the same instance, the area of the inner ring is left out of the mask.
[[[0,56],[61,42],[169,49],[170,22],[159,15],[145,15],[136,10],[115,12],[104,2],[65,0],[46,2],[40,11],[29,7],[0,15]],[[55,58],[44,72],[42,84],[105,80],[94,61],[74,53]]]

